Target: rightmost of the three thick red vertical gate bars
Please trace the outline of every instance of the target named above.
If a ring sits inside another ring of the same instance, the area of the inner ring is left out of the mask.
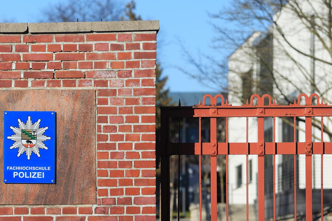
[[[312,221],[312,134],[311,117],[305,117],[305,216]],[[309,149],[308,149],[309,148]],[[311,148],[311,150],[310,150]]]

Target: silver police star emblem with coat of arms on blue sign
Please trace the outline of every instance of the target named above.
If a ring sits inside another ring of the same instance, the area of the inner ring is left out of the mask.
[[[7,139],[14,140],[10,149],[18,148],[17,157],[21,156],[22,153],[27,155],[28,160],[32,153],[35,153],[40,157],[39,149],[47,150],[48,147],[45,146],[43,141],[51,139],[44,135],[48,127],[40,127],[41,119],[38,119],[34,124],[32,124],[31,117],[28,116],[26,123],[23,123],[20,119],[17,119],[19,127],[10,126],[10,129],[13,130],[14,135],[8,136]]]

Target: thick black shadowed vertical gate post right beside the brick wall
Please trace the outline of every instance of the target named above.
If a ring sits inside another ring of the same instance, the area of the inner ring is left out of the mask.
[[[160,141],[163,146],[163,153],[160,156],[160,218],[161,221],[170,220],[170,160],[167,153],[169,142],[169,117],[161,110],[160,113]]]

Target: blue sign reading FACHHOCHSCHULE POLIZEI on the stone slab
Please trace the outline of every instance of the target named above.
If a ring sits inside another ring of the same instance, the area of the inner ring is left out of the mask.
[[[55,183],[55,112],[4,111],[4,183]]]

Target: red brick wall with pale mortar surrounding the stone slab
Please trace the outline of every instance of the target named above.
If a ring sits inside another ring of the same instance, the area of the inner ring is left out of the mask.
[[[0,221],[155,220],[155,59],[156,30],[0,33],[1,90],[97,95],[97,204],[1,205]]]

